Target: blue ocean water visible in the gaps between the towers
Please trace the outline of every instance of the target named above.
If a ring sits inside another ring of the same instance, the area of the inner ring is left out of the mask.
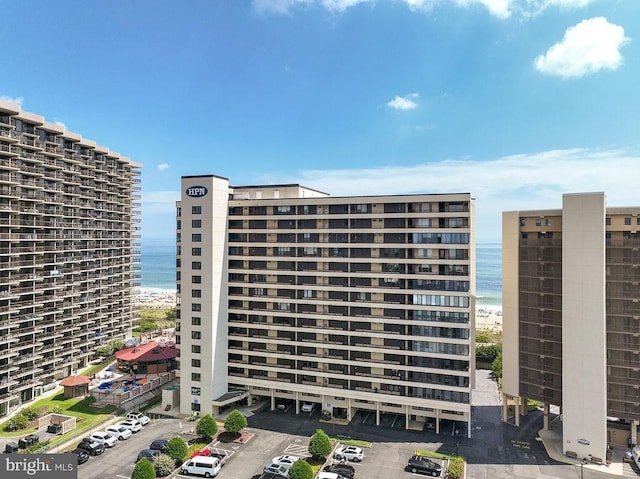
[[[176,243],[174,239],[142,242],[143,288],[176,289]],[[476,246],[476,294],[479,306],[502,305],[502,248],[500,243]]]

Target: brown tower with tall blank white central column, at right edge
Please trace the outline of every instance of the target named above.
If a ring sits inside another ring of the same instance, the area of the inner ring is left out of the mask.
[[[503,213],[503,391],[562,413],[563,451],[637,443],[640,207],[565,194],[562,209]],[[506,409],[503,411],[506,418]],[[630,430],[607,434],[607,417]]]

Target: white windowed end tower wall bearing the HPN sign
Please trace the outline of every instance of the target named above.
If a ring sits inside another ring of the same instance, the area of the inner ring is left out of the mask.
[[[190,188],[202,186],[207,189],[204,196],[189,196],[187,193]],[[215,176],[189,176],[182,178],[181,187],[183,194],[178,216],[181,222],[178,284],[182,305],[180,412],[188,414],[199,408],[201,414],[210,414],[212,401],[228,391],[229,182]],[[200,208],[200,212],[194,207]],[[200,226],[195,226],[197,223],[194,221],[200,221]],[[200,249],[199,254],[195,254],[194,248]],[[200,262],[201,269],[194,269],[193,262]],[[192,324],[194,320],[200,324]],[[199,348],[199,352],[194,352],[194,347]],[[193,374],[197,374],[199,379]]]

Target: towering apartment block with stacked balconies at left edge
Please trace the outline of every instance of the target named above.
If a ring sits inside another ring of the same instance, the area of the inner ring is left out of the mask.
[[[0,416],[130,334],[139,168],[0,101]]]

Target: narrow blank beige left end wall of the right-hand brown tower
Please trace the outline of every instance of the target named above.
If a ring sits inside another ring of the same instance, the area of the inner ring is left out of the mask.
[[[518,211],[502,214],[502,391],[514,397],[520,396],[519,218]]]

